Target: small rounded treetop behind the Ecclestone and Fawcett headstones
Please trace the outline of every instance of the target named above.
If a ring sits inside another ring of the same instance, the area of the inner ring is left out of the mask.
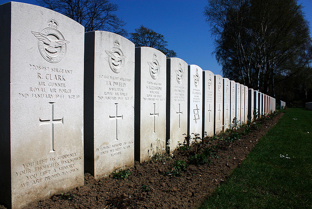
[[[135,33],[130,33],[131,37],[129,38],[136,47],[148,46],[159,51],[163,52],[167,58],[176,57],[177,53],[173,50],[166,48],[167,41],[164,40],[163,35],[153,31],[150,28],[144,27],[141,25],[139,28],[134,29]]]

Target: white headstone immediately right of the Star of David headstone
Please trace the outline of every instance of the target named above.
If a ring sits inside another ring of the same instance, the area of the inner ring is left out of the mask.
[[[203,77],[203,107],[202,107],[202,137],[214,134],[214,74],[209,70],[202,71]]]

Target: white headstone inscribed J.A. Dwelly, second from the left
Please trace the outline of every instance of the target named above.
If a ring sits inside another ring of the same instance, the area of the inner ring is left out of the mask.
[[[84,82],[85,172],[99,179],[134,165],[134,43],[85,33]]]

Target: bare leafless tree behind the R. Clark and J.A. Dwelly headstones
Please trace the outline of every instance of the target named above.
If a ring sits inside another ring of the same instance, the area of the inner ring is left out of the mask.
[[[126,24],[114,12],[118,5],[108,0],[37,0],[40,6],[59,12],[85,27],[85,32],[103,30],[122,36]]]

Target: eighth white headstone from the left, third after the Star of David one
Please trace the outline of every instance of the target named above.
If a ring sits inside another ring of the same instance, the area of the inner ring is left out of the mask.
[[[230,128],[230,107],[231,107],[231,84],[228,78],[223,78],[223,131]]]

